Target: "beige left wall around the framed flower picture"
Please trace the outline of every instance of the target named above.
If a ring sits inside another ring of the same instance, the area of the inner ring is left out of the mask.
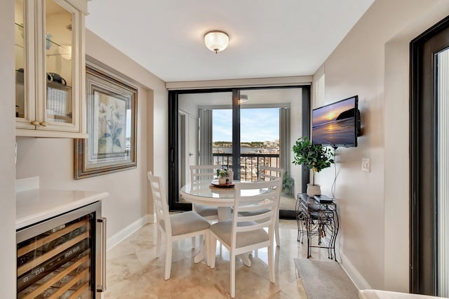
[[[72,139],[17,138],[17,178],[39,175],[42,188],[109,192],[110,196],[102,205],[102,213],[108,219],[109,238],[147,213],[152,215],[147,171],[158,173],[164,180],[167,178],[167,91],[161,79],[89,31],[86,53],[138,85],[138,167],[74,180]],[[156,152],[157,157],[154,157]]]

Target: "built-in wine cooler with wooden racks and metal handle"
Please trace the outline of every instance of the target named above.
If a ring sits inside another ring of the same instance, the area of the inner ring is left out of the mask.
[[[101,298],[106,222],[99,201],[25,227],[16,239],[17,298]]]

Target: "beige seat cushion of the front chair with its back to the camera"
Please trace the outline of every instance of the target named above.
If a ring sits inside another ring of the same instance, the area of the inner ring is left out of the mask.
[[[252,225],[255,222],[239,222],[239,226]],[[210,226],[210,230],[229,246],[231,245],[232,220],[220,221]],[[268,241],[268,233],[264,229],[253,230],[250,232],[238,232],[236,238],[236,248],[245,247],[252,244]]]

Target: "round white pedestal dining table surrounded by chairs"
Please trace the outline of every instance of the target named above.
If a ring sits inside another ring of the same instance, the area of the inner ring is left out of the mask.
[[[182,186],[180,194],[182,198],[191,202],[192,204],[202,204],[204,206],[216,206],[218,212],[218,221],[227,221],[231,219],[232,207],[235,200],[235,184],[240,183],[239,180],[234,180],[232,183],[226,185],[219,185],[217,181],[206,180],[188,183]],[[243,182],[244,183],[244,182]],[[243,196],[260,195],[267,192],[272,192],[268,189],[260,190],[241,190]],[[246,202],[246,204],[253,204],[254,202]],[[194,262],[199,263],[205,258],[205,253],[201,251],[195,256]],[[243,264],[250,267],[251,261],[248,255],[239,255]]]

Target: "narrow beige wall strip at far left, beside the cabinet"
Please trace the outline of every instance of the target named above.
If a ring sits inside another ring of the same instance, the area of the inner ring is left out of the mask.
[[[14,1],[0,3],[0,290],[15,298]],[[7,46],[5,46],[7,45]]]

